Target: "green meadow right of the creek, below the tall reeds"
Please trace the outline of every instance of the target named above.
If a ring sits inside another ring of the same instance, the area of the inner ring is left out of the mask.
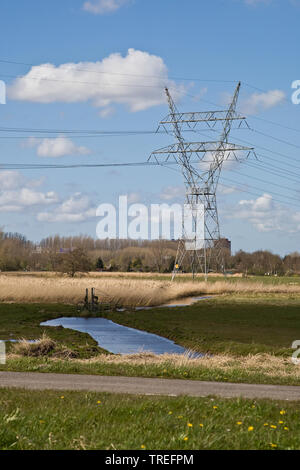
[[[199,352],[289,356],[300,339],[300,297],[292,295],[224,295],[190,307],[105,316]]]

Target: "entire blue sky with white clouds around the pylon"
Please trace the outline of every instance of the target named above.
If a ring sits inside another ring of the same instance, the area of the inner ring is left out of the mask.
[[[155,130],[168,113],[165,85],[180,110],[205,111],[224,107],[241,80],[251,129],[230,140],[251,144],[259,161],[224,167],[222,235],[234,251],[300,251],[299,1],[2,0],[0,13],[2,163],[145,161],[172,138],[64,131]],[[95,208],[122,194],[184,198],[181,175],[162,168],[0,171],[0,183],[0,225],[36,241],[96,236]]]

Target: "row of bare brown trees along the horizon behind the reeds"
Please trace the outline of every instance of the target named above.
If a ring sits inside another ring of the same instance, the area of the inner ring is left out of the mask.
[[[88,236],[48,237],[39,245],[18,233],[0,232],[1,271],[60,271],[75,263],[80,270],[171,272],[177,242],[171,240],[94,240]],[[71,256],[71,253],[73,255]],[[77,257],[77,259],[76,259]],[[270,251],[234,255],[224,249],[225,270],[245,275],[300,274],[300,253],[284,257]],[[189,271],[189,266],[182,269]]]

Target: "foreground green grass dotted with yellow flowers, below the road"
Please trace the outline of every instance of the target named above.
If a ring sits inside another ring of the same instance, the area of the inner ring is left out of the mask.
[[[299,402],[3,389],[0,449],[299,450],[299,417]]]

